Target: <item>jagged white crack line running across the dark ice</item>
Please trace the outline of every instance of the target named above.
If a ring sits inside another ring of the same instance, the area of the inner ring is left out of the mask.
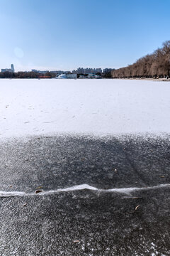
[[[20,191],[0,191],[0,197],[13,197],[13,196],[47,196],[55,193],[60,192],[67,192],[67,191],[81,191],[84,189],[87,189],[89,191],[98,191],[98,192],[105,192],[105,193],[122,193],[122,194],[130,194],[133,191],[145,191],[145,190],[151,190],[151,189],[158,189],[158,188],[170,188],[170,184],[161,184],[158,186],[149,186],[149,187],[143,187],[143,188],[137,188],[137,187],[130,187],[130,188],[111,188],[111,189],[98,189],[94,186],[89,186],[88,184],[82,184],[77,186],[72,186],[69,188],[59,188],[57,190],[51,190],[51,191],[42,191],[38,194],[34,193],[26,193],[26,192],[20,192]]]

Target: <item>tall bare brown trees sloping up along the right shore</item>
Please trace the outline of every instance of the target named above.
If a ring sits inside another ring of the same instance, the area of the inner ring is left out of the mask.
[[[170,41],[154,53],[146,55],[125,68],[112,70],[112,78],[164,78],[170,73]]]

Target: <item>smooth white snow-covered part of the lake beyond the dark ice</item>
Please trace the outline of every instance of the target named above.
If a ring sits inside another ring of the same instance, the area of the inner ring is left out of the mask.
[[[0,80],[0,138],[170,132],[170,82]]]

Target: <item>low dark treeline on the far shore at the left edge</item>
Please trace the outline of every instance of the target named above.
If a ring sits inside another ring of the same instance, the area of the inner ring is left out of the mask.
[[[55,78],[54,73],[47,72],[45,74],[36,73],[36,72],[1,72],[0,78]]]

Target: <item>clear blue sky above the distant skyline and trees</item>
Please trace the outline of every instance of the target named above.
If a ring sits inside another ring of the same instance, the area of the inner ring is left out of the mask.
[[[120,68],[170,39],[169,0],[0,0],[0,68]]]

